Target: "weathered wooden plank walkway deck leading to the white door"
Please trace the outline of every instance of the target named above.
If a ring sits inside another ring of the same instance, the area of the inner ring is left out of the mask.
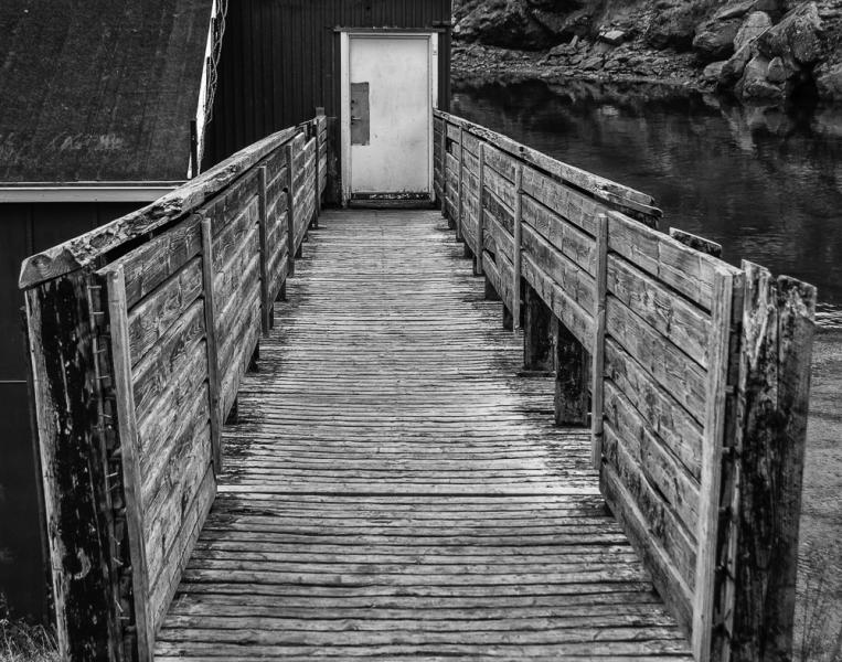
[[[157,659],[690,660],[437,212],[331,212]]]

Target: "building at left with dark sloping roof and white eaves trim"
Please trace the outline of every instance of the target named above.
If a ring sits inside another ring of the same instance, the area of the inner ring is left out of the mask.
[[[46,604],[21,260],[139,209],[191,170],[214,0],[0,3],[0,598]]]

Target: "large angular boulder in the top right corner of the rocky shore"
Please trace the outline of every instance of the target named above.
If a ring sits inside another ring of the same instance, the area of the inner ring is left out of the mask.
[[[814,64],[824,52],[824,30],[816,2],[806,2],[757,38],[766,57],[780,56],[803,65]]]

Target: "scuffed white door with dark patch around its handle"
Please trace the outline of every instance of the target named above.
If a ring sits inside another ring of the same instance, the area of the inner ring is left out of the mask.
[[[347,103],[347,193],[352,197],[428,197],[434,39],[428,34],[352,34],[347,53],[342,95]]]

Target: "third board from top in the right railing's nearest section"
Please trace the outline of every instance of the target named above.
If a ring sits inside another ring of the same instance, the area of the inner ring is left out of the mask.
[[[606,300],[606,330],[701,424],[705,371],[695,361],[615,297]]]

